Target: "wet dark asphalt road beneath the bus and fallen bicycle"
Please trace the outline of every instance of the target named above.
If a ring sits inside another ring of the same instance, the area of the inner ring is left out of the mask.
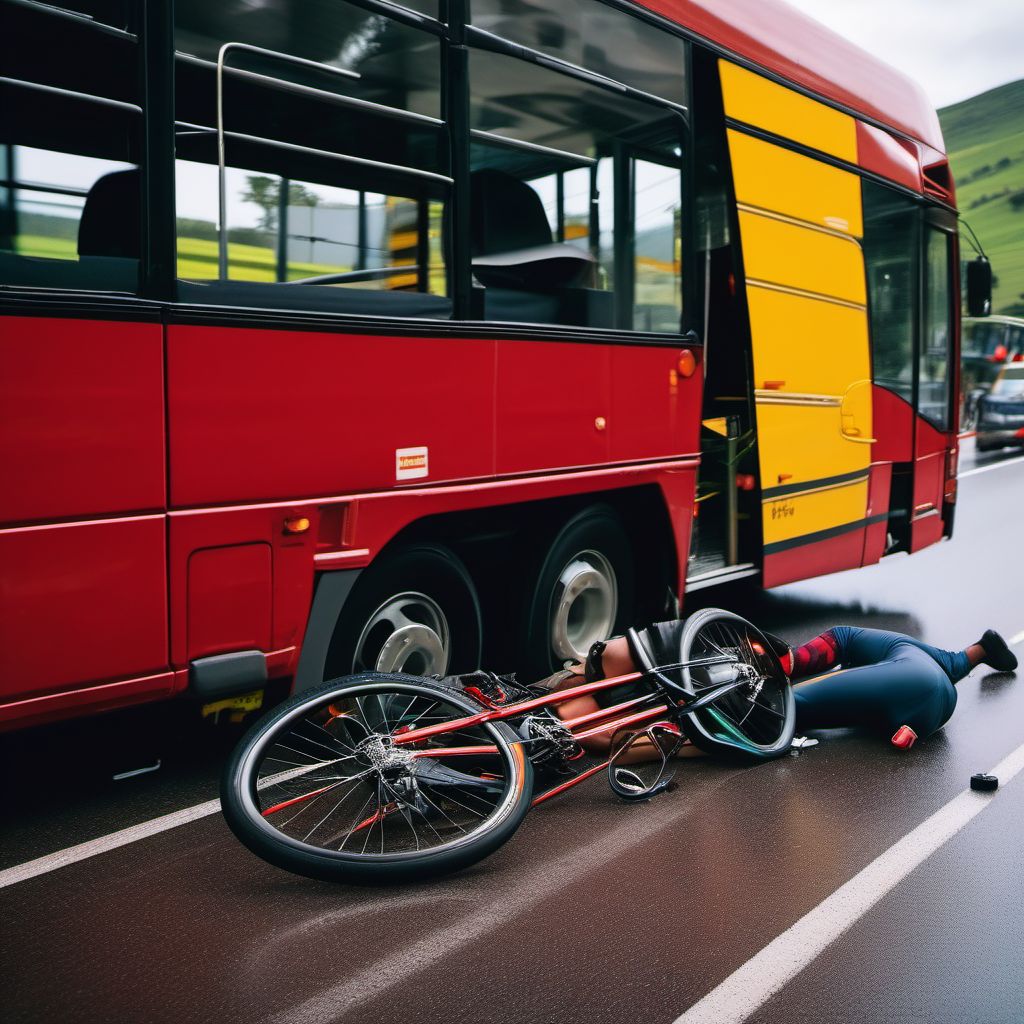
[[[849,623],[948,647],[989,626],[1024,641],[1024,459],[976,460],[968,442],[961,472],[951,543],[745,601],[701,596],[791,640]],[[0,888],[3,1019],[671,1024],[710,992],[728,1006],[731,984],[758,1024],[1019,1024],[1024,777],[968,798],[985,803],[939,840],[970,775],[1024,743],[1024,685],[979,669],[958,690],[951,722],[908,753],[826,732],[756,768],[686,762],[635,806],[595,780],[424,885],[292,877],[204,814]],[[236,736],[165,707],[4,737],[0,868],[212,800]],[[938,846],[913,869],[891,863],[911,833]],[[830,934],[844,894],[880,871],[881,898]],[[706,1019],[729,1019],[716,1006]]]

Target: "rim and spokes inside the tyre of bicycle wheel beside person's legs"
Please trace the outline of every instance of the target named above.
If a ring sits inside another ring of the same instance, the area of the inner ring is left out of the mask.
[[[748,624],[715,620],[700,627],[686,658],[728,655],[736,659],[750,680],[710,708],[690,716],[708,738],[752,752],[768,753],[792,732],[787,702],[792,699],[781,669],[768,653],[764,639]],[[687,688],[700,695],[721,682],[715,670],[684,670]]]

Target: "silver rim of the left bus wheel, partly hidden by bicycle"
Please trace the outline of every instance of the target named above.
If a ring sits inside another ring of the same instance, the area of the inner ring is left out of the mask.
[[[441,606],[426,594],[389,597],[367,621],[352,655],[353,672],[443,676],[452,653]]]

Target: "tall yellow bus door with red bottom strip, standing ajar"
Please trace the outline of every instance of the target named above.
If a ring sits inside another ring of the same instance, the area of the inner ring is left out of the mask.
[[[873,436],[860,180],[775,141],[855,163],[856,125],[744,69],[719,69],[772,587],[863,556]]]

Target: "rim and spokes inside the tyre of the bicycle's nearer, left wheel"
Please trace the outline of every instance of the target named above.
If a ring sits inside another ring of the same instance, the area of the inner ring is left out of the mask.
[[[466,715],[443,693],[408,684],[349,688],[300,707],[243,763],[252,780],[243,802],[279,843],[342,860],[464,847],[512,810],[524,785],[521,752],[486,724],[415,748],[395,736]],[[444,755],[473,746],[493,753]]]

